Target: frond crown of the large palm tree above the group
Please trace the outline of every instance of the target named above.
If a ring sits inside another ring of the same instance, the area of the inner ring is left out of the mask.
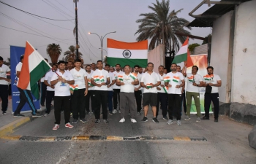
[[[153,7],[148,6],[154,12],[140,14],[143,18],[136,21],[136,23],[140,23],[139,29],[135,33],[139,34],[137,41],[151,39],[148,50],[153,50],[154,47],[161,44],[161,40],[170,50],[178,50],[180,47],[179,42],[185,42],[186,36],[180,36],[176,33],[190,34],[189,31],[184,29],[189,21],[177,17],[178,12],[181,12],[182,9],[169,12],[169,0],[162,0],[162,2],[156,1],[156,4],[152,3]],[[186,28],[189,30],[192,29],[190,27]],[[164,34],[164,39],[162,39],[162,34]]]

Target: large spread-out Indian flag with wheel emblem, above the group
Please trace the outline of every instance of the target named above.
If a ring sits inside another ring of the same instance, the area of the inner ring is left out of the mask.
[[[110,66],[139,65],[146,68],[148,63],[148,41],[120,42],[108,38],[108,64]]]

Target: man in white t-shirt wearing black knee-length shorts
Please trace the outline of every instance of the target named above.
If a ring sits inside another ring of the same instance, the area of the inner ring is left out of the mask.
[[[148,63],[147,70],[141,77],[140,85],[143,87],[143,106],[144,117],[142,122],[148,121],[148,106],[151,105],[153,111],[153,122],[158,123],[157,120],[157,86],[161,84],[159,75],[153,71],[154,64]]]

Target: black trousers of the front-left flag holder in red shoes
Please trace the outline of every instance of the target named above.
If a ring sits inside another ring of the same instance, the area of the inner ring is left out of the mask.
[[[69,96],[54,96],[54,117],[55,124],[61,123],[61,111],[64,111],[65,124],[70,119],[70,95]]]

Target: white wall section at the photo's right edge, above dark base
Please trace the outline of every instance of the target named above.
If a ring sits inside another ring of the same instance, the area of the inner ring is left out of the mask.
[[[236,8],[232,102],[256,105],[256,1]],[[246,49],[246,52],[245,52]],[[244,52],[243,52],[244,51]]]

